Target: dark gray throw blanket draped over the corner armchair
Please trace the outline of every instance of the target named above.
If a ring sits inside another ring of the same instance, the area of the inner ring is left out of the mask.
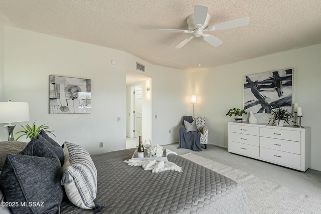
[[[178,148],[192,149],[193,151],[202,151],[201,149],[201,133],[199,131],[187,132],[184,126],[184,120],[191,123],[193,122],[192,116],[184,116],[182,125],[179,129],[180,144]]]

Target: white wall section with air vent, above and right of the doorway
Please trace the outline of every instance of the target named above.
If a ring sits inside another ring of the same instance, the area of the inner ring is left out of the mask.
[[[144,73],[135,69],[136,62],[145,65]],[[192,114],[193,74],[152,65],[132,55],[126,57],[126,69],[151,78],[152,144],[178,142],[178,129],[183,115]],[[172,133],[169,133],[169,129]]]

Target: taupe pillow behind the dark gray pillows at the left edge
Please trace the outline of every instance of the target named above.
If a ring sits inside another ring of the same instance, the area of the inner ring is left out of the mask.
[[[19,154],[28,143],[20,141],[3,141],[0,142],[0,171],[7,159],[7,154]]]

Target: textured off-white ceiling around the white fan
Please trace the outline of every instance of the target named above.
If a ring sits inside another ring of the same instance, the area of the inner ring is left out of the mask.
[[[188,34],[195,5],[207,5],[209,26],[249,17],[245,27],[210,32],[219,47]],[[0,0],[0,21],[43,34],[130,53],[149,63],[198,71],[321,43],[320,0]],[[201,67],[199,67],[201,62]]]

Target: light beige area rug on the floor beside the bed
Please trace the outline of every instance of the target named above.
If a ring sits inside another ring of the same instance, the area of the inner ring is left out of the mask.
[[[212,169],[213,171],[227,176],[241,184],[246,192],[250,212],[253,214],[321,213],[321,200],[308,195],[299,194],[284,186],[260,179],[252,174],[196,154],[187,153],[181,156]]]

